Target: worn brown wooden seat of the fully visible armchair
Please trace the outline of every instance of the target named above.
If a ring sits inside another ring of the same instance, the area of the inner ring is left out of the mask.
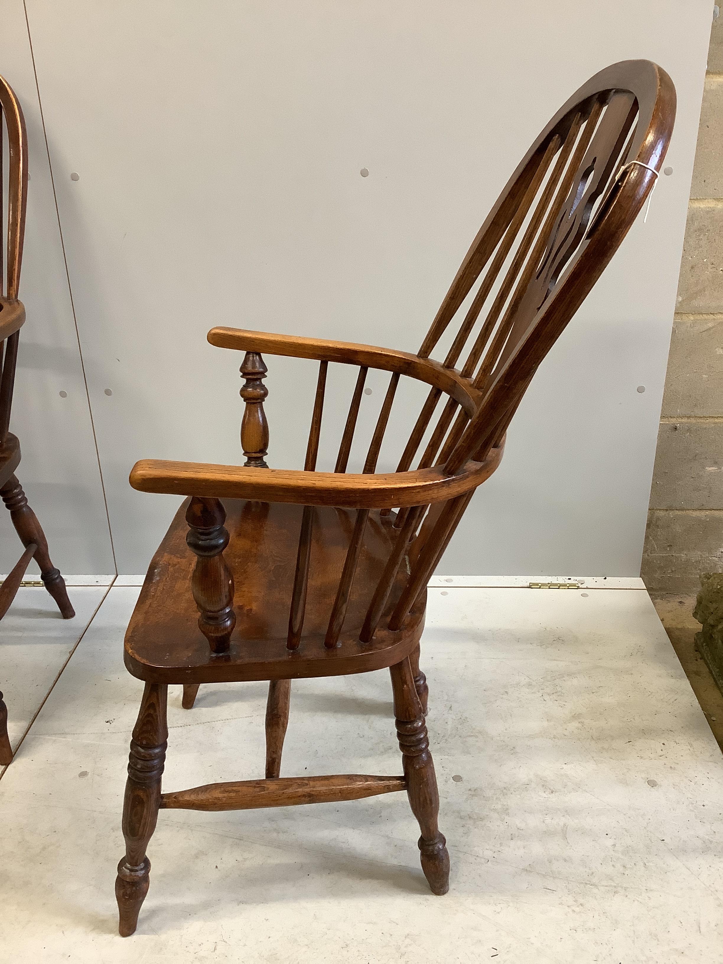
[[[382,669],[408,656],[424,628],[422,596],[402,629],[379,629],[366,644],[360,632],[369,599],[399,534],[393,516],[369,514],[346,617],[335,649],[324,646],[356,512],[317,506],[314,511],[304,635],[289,651],[289,600],[294,585],[303,506],[225,499],[230,540],[225,556],[234,574],[236,625],[228,652],[213,655],[198,626],[191,593],[196,556],[186,545],[187,499],[153,556],[125,635],[125,665],[152,683],[222,683],[338,676]],[[397,603],[409,574],[399,567],[385,613]],[[388,620],[384,620],[386,625]]]

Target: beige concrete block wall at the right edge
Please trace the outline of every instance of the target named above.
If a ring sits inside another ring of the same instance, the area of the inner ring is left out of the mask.
[[[723,14],[713,20],[641,575],[723,571]]]

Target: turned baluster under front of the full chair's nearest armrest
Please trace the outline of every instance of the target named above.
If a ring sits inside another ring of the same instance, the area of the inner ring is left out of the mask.
[[[194,496],[186,512],[186,542],[199,557],[191,580],[199,607],[199,629],[212,653],[226,653],[236,625],[233,611],[233,576],[224,559],[228,531],[226,511],[217,498]]]

